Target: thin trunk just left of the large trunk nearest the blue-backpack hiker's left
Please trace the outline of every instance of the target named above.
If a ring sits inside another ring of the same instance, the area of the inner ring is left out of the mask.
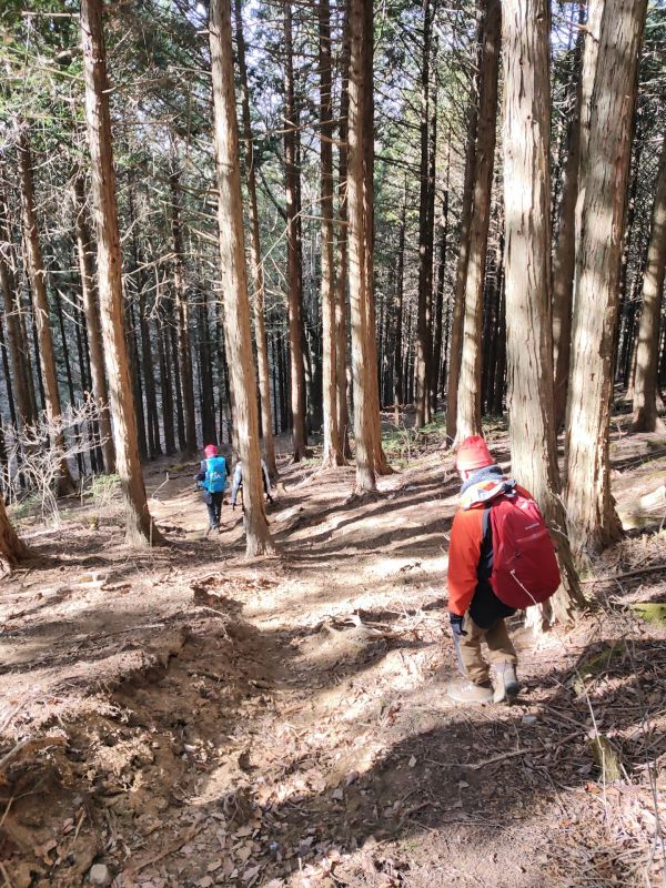
[[[100,310],[98,292],[94,283],[92,268],[92,240],[85,219],[85,199],[83,179],[74,179],[74,215],[77,256],[79,260],[79,274],[81,276],[81,296],[83,300],[83,314],[88,331],[88,349],[90,354],[90,375],[92,379],[92,394],[99,411],[99,428],[102,440],[102,453],[107,472],[115,470],[115,447],[109,417],[109,391],[107,387],[107,373],[104,370],[104,350],[102,346],[102,331],[100,327]]]

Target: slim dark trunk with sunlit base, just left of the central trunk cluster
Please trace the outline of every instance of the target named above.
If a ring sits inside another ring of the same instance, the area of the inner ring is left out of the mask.
[[[299,220],[300,171],[296,157],[299,113],[294,95],[294,60],[291,0],[284,0],[284,163],[286,185],[286,279],[293,460],[305,450],[305,373],[303,350],[303,291]]]

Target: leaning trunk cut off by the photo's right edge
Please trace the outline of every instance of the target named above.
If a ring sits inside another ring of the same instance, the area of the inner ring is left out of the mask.
[[[659,313],[666,270],[666,139],[662,145],[655,188],[647,263],[643,278],[643,309],[636,345],[633,428],[636,432],[664,431],[657,415],[657,367],[659,357]]]

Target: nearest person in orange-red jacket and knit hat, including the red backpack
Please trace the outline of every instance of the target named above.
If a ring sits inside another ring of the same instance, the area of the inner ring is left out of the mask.
[[[503,474],[483,437],[463,441],[456,468],[463,486],[451,528],[448,616],[464,679],[447,693],[457,703],[500,703],[521,689],[504,618],[549,597],[559,569],[532,494]],[[494,693],[482,639],[495,667]]]

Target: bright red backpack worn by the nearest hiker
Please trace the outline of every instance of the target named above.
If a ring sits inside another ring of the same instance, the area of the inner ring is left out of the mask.
[[[491,586],[509,607],[545,602],[559,586],[559,567],[544,516],[518,488],[493,501]]]

